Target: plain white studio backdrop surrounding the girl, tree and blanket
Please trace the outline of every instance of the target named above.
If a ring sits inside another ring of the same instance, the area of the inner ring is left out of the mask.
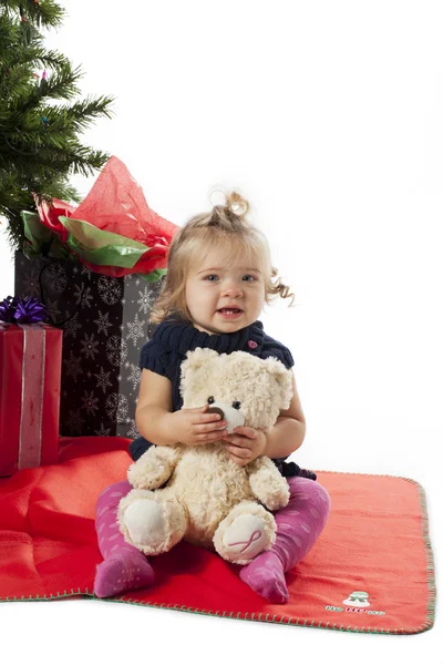
[[[442,552],[443,9],[440,2],[65,0],[47,44],[115,115],[115,154],[176,224],[238,187],[296,294],[262,315],[295,358],[298,463],[409,477]],[[74,178],[82,194],[93,178]],[[13,291],[4,236],[2,291]],[[350,567],[352,562],[350,561]],[[442,622],[394,637],[102,602],[0,605],[37,663],[443,663]],[[431,655],[432,654],[432,655]]]

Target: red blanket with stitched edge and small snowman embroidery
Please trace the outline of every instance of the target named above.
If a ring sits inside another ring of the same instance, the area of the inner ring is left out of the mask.
[[[0,480],[0,600],[93,596],[96,498],[125,478],[127,439],[63,442],[60,463]],[[319,472],[329,522],[270,605],[218,555],[179,543],[155,557],[155,586],[120,602],[341,631],[412,634],[433,625],[435,586],[422,488],[388,475]]]

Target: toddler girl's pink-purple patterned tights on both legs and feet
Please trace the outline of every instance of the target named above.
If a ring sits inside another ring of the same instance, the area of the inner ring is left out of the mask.
[[[240,570],[240,579],[272,603],[286,603],[288,591],[285,572],[292,569],[311,550],[330,510],[324,488],[307,478],[289,478],[289,503],[274,513],[277,538],[271,550],[262,552]],[[147,557],[124,540],[116,512],[122,497],[131,490],[127,481],[104,490],[97,501],[96,532],[104,561],[97,566],[94,592],[109,597],[154,583],[155,574]]]

